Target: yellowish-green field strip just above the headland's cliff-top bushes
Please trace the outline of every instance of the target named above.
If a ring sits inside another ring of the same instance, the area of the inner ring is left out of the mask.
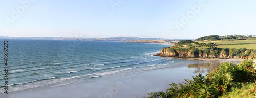
[[[236,49],[240,49],[240,48],[247,48],[247,49],[256,49],[256,44],[243,44],[243,45],[221,45],[221,46],[216,46],[218,48],[236,48]]]

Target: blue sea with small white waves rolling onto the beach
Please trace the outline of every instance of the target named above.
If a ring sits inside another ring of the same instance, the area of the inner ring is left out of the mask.
[[[1,39],[0,42],[4,43],[4,40]],[[106,41],[10,39],[9,92],[74,79],[87,81],[113,73],[154,70],[200,62],[150,55],[169,46]],[[2,44],[2,50],[3,47]],[[4,51],[0,51],[0,54],[3,55],[0,59],[4,67]],[[2,71],[0,76],[4,77],[4,74]],[[0,81],[4,84],[4,78]]]

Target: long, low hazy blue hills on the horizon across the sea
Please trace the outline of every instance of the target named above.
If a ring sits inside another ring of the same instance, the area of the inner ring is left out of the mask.
[[[84,40],[84,41],[133,41],[133,40],[193,40],[193,39],[163,39],[139,37],[109,37],[109,38],[75,38],[75,37],[4,37],[0,39],[43,39],[43,40]]]

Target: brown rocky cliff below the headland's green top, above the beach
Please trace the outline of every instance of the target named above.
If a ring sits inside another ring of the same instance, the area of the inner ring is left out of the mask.
[[[200,58],[248,58],[252,59],[253,57],[256,57],[256,51],[250,52],[248,54],[249,50],[246,50],[244,53],[241,53],[241,55],[245,55],[246,53],[248,56],[231,56],[230,53],[234,51],[232,49],[225,49],[225,51],[217,51],[216,50],[199,50],[199,49],[175,49],[175,48],[162,48],[162,50],[156,54],[156,56],[168,56],[168,57],[200,57]],[[216,53],[215,53],[216,52]]]

